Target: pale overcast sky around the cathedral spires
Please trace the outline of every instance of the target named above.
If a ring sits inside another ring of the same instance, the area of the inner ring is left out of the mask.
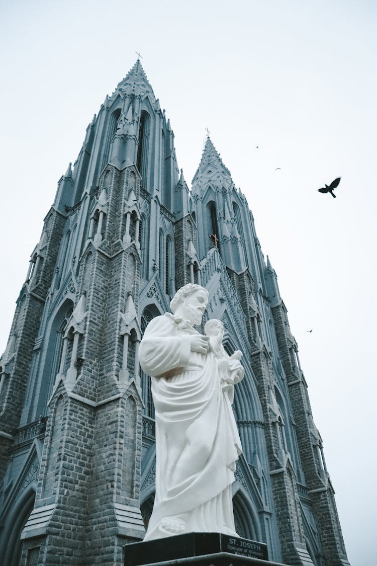
[[[57,181],[138,51],[187,182],[208,127],[248,199],[352,566],[377,563],[376,12],[373,0],[0,2],[0,349]],[[336,199],[317,191],[339,176]]]

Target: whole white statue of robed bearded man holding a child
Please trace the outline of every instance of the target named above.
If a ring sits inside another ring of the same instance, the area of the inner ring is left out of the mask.
[[[150,321],[139,350],[151,376],[156,418],[156,495],[144,540],[192,531],[238,536],[232,483],[242,451],[231,404],[244,369],[241,352],[222,345],[223,325],[201,324],[206,289],[188,284],[170,303],[173,314]]]

